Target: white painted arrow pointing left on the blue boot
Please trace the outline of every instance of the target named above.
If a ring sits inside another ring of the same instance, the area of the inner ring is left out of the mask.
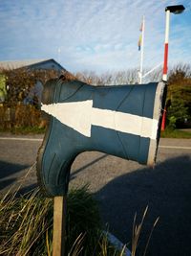
[[[73,103],[42,105],[62,124],[74,128],[84,136],[91,137],[91,127],[112,128],[117,131],[156,139],[159,121],[109,109],[93,107],[93,100]]]

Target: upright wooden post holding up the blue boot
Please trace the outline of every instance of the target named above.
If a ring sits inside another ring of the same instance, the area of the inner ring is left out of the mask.
[[[65,256],[66,197],[53,200],[53,256]]]

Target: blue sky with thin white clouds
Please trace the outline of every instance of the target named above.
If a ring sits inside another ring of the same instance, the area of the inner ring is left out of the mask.
[[[0,60],[54,58],[71,72],[126,70],[139,65],[145,15],[144,67],[163,61],[165,7],[170,16],[169,64],[191,64],[191,3],[165,0],[0,0]]]

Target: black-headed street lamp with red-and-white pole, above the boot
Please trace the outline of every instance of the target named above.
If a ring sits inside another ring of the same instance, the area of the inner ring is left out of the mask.
[[[169,40],[169,25],[170,25],[170,12],[174,14],[180,14],[185,10],[184,6],[167,6],[165,8],[166,12],[166,26],[165,26],[165,42],[164,42],[164,62],[163,62],[163,75],[162,80],[167,81],[167,71],[168,71],[168,40]]]

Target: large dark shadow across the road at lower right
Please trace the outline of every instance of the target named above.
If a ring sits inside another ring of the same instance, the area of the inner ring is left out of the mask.
[[[183,155],[159,163],[154,169],[121,175],[96,193],[102,219],[123,243],[131,246],[135,214],[140,221],[148,205],[138,255],[159,217],[146,255],[180,256],[191,251],[191,157]]]

